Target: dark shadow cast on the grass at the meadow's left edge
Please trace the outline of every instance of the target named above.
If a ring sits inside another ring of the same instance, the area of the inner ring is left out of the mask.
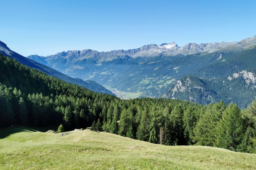
[[[3,129],[0,129],[0,139],[4,139],[14,133],[19,133],[19,132],[46,132],[47,130],[52,130],[55,129],[56,127],[21,127],[21,126],[13,126],[13,127],[6,127]]]

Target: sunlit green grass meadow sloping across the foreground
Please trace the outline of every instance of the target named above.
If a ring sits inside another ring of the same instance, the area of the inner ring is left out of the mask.
[[[202,146],[163,146],[91,130],[0,130],[1,170],[256,169],[256,154]]]

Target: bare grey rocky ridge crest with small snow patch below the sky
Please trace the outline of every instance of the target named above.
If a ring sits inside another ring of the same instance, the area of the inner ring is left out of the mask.
[[[220,50],[236,50],[241,51],[245,48],[248,48],[252,45],[256,45],[256,36],[250,37],[240,42],[211,42],[211,43],[188,43],[183,47],[179,47],[175,42],[172,43],[163,43],[161,45],[150,44],[144,45],[137,49],[130,50],[113,50],[108,52],[99,52],[90,49],[78,51],[63,51],[61,53],[50,55],[45,57],[38,56],[35,57],[29,56],[29,59],[33,59],[42,64],[46,64],[51,62],[52,60],[61,60],[66,59],[70,62],[76,62],[83,59],[92,59],[95,62],[103,62],[103,61],[112,61],[113,59],[126,59],[129,60],[131,58],[136,57],[155,57],[159,55],[163,56],[175,56],[175,55],[189,55],[189,54],[198,54],[198,53],[212,53]],[[1,50],[1,44],[0,44]],[[7,53],[9,51],[6,51]],[[45,62],[43,61],[45,60]],[[44,62],[44,63],[43,63]]]

